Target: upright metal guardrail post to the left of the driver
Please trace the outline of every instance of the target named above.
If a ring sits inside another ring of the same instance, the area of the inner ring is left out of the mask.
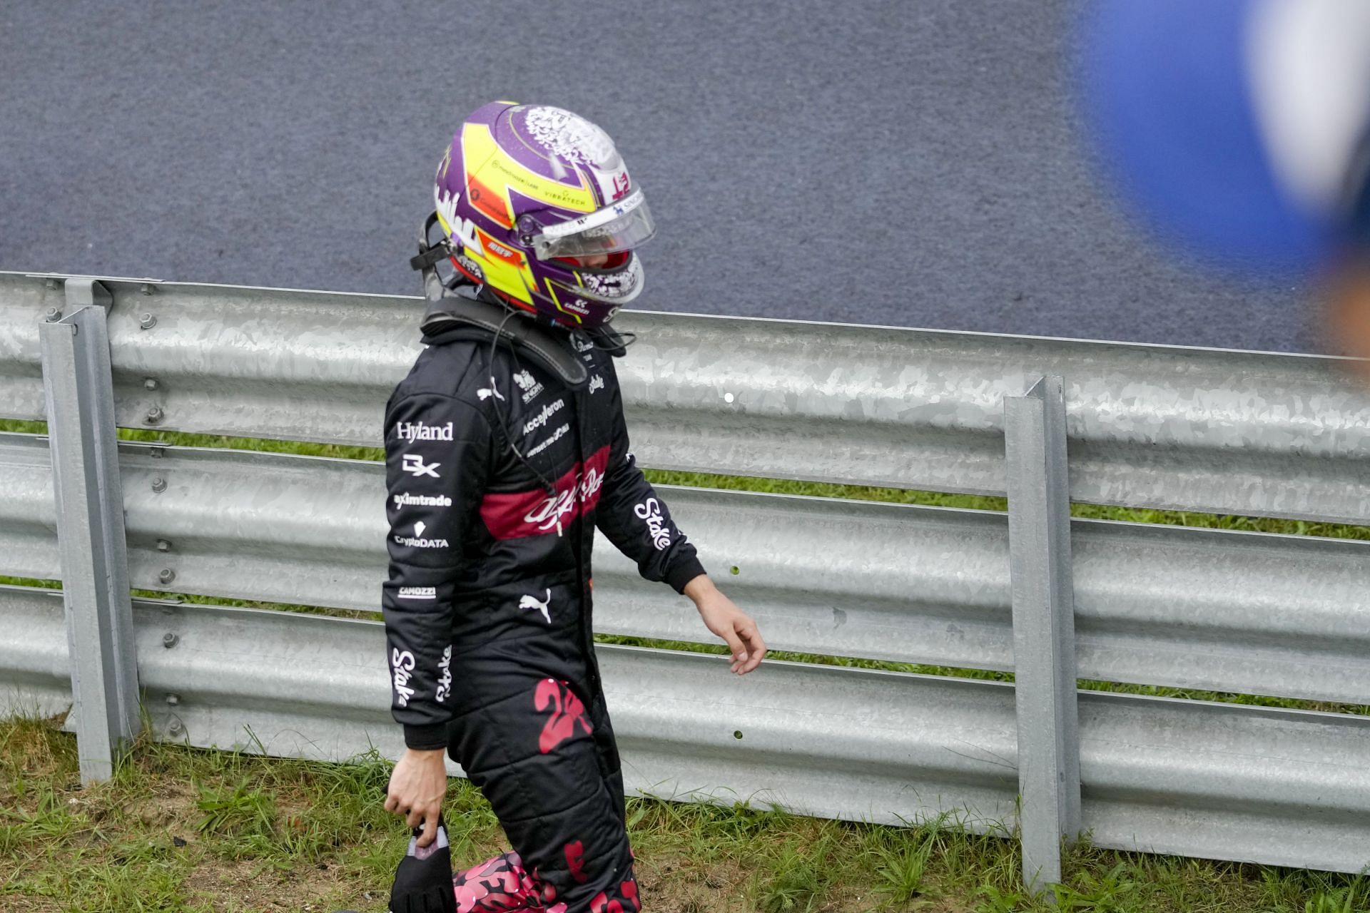
[[[66,313],[49,315],[38,329],[77,753],[86,784],[114,775],[115,753],[140,724],[105,329],[112,303],[100,282],[67,279]]]

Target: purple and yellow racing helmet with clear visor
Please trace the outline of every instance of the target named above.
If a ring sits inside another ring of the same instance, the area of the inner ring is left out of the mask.
[[[570,111],[492,101],[452,137],[433,185],[452,266],[500,303],[589,330],[643,292],[656,229],[614,141]],[[590,266],[593,264],[593,266]]]

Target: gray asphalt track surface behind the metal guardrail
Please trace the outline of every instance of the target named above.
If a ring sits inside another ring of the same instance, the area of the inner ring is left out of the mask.
[[[640,307],[1318,350],[1103,198],[1070,0],[0,3],[0,268],[412,294],[484,101],[618,140]]]

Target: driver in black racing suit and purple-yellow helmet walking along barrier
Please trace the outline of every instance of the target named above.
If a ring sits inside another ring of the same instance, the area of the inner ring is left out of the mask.
[[[456,909],[632,913],[595,530],[695,602],[734,673],[766,654],[629,452],[610,320],[643,289],[651,212],[603,130],[506,101],[452,138],[434,205],[412,261],[425,350],[385,416],[382,609],[407,746],[386,809],[432,843],[449,754],[514,847],[456,877]]]

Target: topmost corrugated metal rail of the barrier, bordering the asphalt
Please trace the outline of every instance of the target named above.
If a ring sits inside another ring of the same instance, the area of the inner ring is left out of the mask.
[[[418,298],[103,283],[127,427],[378,446],[418,345]],[[11,417],[41,416],[37,326],[63,307],[62,279],[0,272]],[[638,334],[619,378],[644,465],[1004,494],[1003,397],[1058,374],[1074,501],[1370,523],[1370,393],[1343,382],[1345,359],[645,312],[615,326]]]

